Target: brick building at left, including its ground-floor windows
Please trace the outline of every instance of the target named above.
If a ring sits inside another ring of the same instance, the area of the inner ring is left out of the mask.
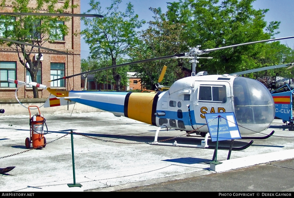
[[[58,1],[58,4],[63,4]],[[80,0],[71,0],[71,4],[77,4],[78,7],[68,9],[65,13],[80,13]],[[4,10],[2,12],[12,12],[12,4],[6,0]],[[34,9],[34,1],[30,5]],[[46,12],[46,9],[44,9]],[[74,33],[80,32],[81,22],[79,17],[71,17],[70,21],[60,21],[68,27],[69,34],[67,36],[61,35],[60,40],[54,42],[44,43],[44,47],[56,49],[58,51],[68,52],[70,55],[57,54],[55,52],[41,49],[43,60],[41,67],[37,74],[38,83],[44,84],[48,87],[60,90],[81,90],[81,77],[76,76],[69,80],[60,80],[48,82],[51,79],[69,76],[81,72],[81,58],[80,58],[80,36],[75,36]],[[0,32],[1,34],[1,32]],[[27,48],[29,50],[30,47]],[[38,54],[38,49],[34,48],[31,57],[34,60],[35,54]],[[21,57],[23,58],[23,56]],[[7,78],[17,79],[19,81],[30,81],[29,72],[19,62],[18,53],[8,46],[0,46],[0,99],[15,98],[16,85],[10,84]],[[47,98],[49,92],[47,90],[38,89],[39,98]],[[21,86],[17,91],[18,98],[33,98],[32,87]]]

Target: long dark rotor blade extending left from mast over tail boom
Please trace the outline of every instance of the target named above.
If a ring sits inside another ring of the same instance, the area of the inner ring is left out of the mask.
[[[57,79],[54,79],[54,80],[50,80],[49,82],[57,81],[57,80],[61,80],[61,79],[68,79],[68,78],[71,78],[71,77],[74,77],[74,76],[80,76],[80,75],[83,75],[83,74],[89,74],[89,73],[96,72],[96,71],[103,71],[103,70],[106,70],[106,69],[113,69],[113,68],[116,68],[116,67],[122,67],[122,66],[127,66],[127,65],[138,64],[138,63],[146,63],[146,62],[149,62],[149,61],[158,61],[158,60],[170,59],[171,57],[174,57],[174,56],[185,56],[185,53],[183,53],[183,54],[175,54],[175,55],[172,55],[172,56],[163,56],[163,57],[158,57],[158,58],[153,58],[153,59],[146,59],[146,60],[141,60],[141,61],[134,61],[134,62],[130,62],[130,63],[124,63],[124,64],[119,64],[119,65],[114,65],[114,66],[109,66],[109,67],[104,67],[104,68],[101,68],[101,69],[95,69],[95,70],[92,70],[92,71],[86,71],[86,72],[83,72],[83,73],[80,73],[80,74],[74,74],[74,75],[71,75],[71,76],[64,76],[62,78],[57,78]]]

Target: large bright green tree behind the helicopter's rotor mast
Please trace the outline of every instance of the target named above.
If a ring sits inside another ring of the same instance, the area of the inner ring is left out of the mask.
[[[254,0],[185,0],[170,3],[168,20],[180,22],[186,31],[189,46],[201,49],[266,40],[273,37],[280,22],[266,23],[268,9],[253,9]],[[189,36],[187,36],[189,35]],[[258,57],[265,44],[239,46],[234,49],[214,51],[212,60],[201,59],[198,71],[223,74],[254,69],[260,66]]]

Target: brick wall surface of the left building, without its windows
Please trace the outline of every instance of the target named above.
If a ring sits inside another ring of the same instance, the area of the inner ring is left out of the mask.
[[[34,1],[31,1],[30,8],[34,9]],[[66,13],[81,13],[80,11],[80,0],[72,0],[71,3],[78,4],[78,7],[75,9],[68,9]],[[63,2],[58,1],[58,4],[61,5]],[[6,4],[4,6],[3,12],[11,12],[12,5],[11,1],[6,0]],[[46,10],[44,10],[46,11]],[[71,20],[65,23],[68,26],[69,34],[64,37],[64,41],[56,41],[54,43],[44,43],[44,47],[56,49],[59,51],[68,51],[72,54],[80,54],[81,52],[81,43],[80,36],[74,36],[73,34],[76,32],[80,32],[81,20],[79,17],[71,17]],[[30,47],[27,48],[28,50]],[[34,52],[31,54],[31,57],[34,56],[35,53],[38,53],[38,49],[34,49]],[[81,72],[81,58],[80,55],[60,55],[54,52],[41,50],[43,54],[44,60],[41,65],[41,83],[50,87],[50,63],[64,63],[65,64],[65,76],[78,74]],[[20,56],[21,58],[23,56]],[[15,61],[16,62],[16,79],[20,81],[26,81],[26,69],[20,63],[18,54],[16,51],[11,49],[8,46],[0,46],[0,61]],[[62,89],[62,88],[58,88]],[[81,76],[76,76],[65,82],[66,90],[81,90]],[[3,88],[0,87],[0,99],[9,99],[15,98],[15,90],[16,88]],[[17,95],[19,98],[32,98],[33,91],[31,87],[22,86],[18,91]],[[47,98],[49,96],[49,92],[47,90],[39,89],[39,98]]]

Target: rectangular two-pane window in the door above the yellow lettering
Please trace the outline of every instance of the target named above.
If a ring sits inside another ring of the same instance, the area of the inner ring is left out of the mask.
[[[201,102],[226,103],[225,85],[201,85],[199,86],[198,100]]]

